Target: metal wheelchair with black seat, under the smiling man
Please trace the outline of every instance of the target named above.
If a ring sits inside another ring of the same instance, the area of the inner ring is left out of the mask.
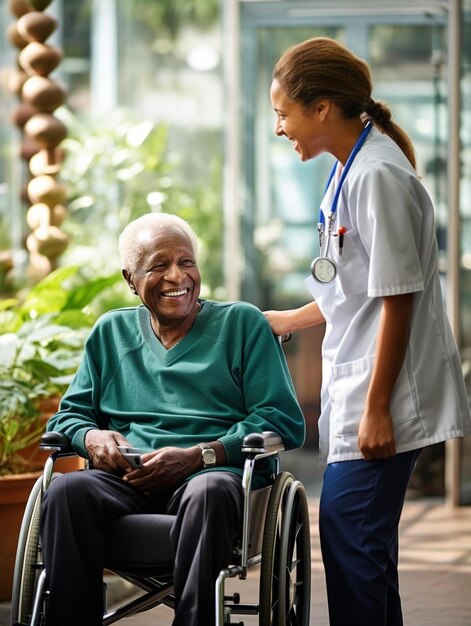
[[[46,433],[41,449],[51,450],[43,475],[27,502],[17,547],[11,602],[11,626],[43,626],[46,623],[48,590],[41,562],[41,500],[54,472],[54,462],[74,454],[69,440],[59,433]],[[243,513],[232,558],[216,581],[216,626],[243,622],[233,615],[258,615],[260,626],[309,626],[311,596],[311,548],[309,509],[303,484],[280,471],[281,438],[271,432],[245,437],[242,477]],[[257,461],[275,459],[271,484],[252,489]],[[87,471],[87,470],[85,470]],[[108,571],[136,587],[137,597],[127,598],[111,610],[106,608],[103,626],[118,622],[158,605],[174,607],[172,568],[174,555],[168,540],[173,516],[135,514],[120,518],[111,529],[116,560]],[[157,539],[156,539],[157,538]],[[167,540],[165,540],[167,538]],[[225,595],[228,578],[245,580],[248,570],[260,566],[259,596],[255,604],[244,604],[240,594]]]

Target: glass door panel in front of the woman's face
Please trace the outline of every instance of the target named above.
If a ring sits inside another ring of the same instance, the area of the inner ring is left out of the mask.
[[[304,278],[318,253],[317,213],[328,176],[330,157],[302,163],[291,145],[274,133],[275,114],[270,102],[273,66],[289,46],[319,35],[341,37],[338,28],[260,27],[256,30],[255,58],[247,56],[242,67],[255,68],[246,77],[252,95],[253,119],[247,110],[247,136],[254,137],[244,158],[245,175],[252,178],[253,196],[247,197],[248,229],[243,246],[254,259],[258,273],[249,273],[242,286],[245,299],[261,307],[288,307],[304,303]],[[253,219],[253,235],[250,232]]]

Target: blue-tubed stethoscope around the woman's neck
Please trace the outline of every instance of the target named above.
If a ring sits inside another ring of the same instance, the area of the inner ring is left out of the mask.
[[[340,176],[339,183],[337,185],[337,189],[335,190],[334,199],[332,202],[332,206],[327,215],[328,225],[327,225],[327,236],[325,232],[325,217],[322,209],[319,209],[319,222],[317,223],[317,230],[319,232],[319,248],[320,254],[318,257],[314,259],[311,263],[311,272],[313,277],[319,281],[320,283],[330,283],[334,280],[337,275],[337,268],[335,263],[328,257],[329,254],[329,246],[332,237],[332,230],[334,226],[334,221],[336,217],[337,204],[339,202],[340,192],[342,191],[342,185],[347,177],[348,170],[350,169],[356,155],[360,151],[361,147],[365,143],[366,138],[368,137],[368,133],[373,128],[373,124],[368,122],[363,129],[361,135],[358,137],[357,142],[353,146],[353,150],[350,153],[350,156],[347,159],[345,167],[343,168],[342,175]],[[330,187],[330,183],[335,176],[335,172],[337,170],[338,161],[336,161],[334,167],[329,176],[329,180],[327,181],[327,185],[325,187],[324,196],[327,193],[328,188]]]

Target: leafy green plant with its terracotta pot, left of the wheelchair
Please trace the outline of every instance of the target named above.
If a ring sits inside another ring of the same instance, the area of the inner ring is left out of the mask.
[[[0,601],[10,597],[24,506],[46,457],[38,440],[101,313],[92,303],[118,280],[118,273],[87,280],[64,267],[23,298],[0,301]]]

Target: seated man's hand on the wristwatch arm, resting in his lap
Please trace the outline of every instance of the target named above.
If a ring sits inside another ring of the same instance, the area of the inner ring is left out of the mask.
[[[128,472],[124,480],[144,493],[169,491],[183,483],[185,478],[201,469],[201,450],[167,446],[142,455],[144,465]]]

